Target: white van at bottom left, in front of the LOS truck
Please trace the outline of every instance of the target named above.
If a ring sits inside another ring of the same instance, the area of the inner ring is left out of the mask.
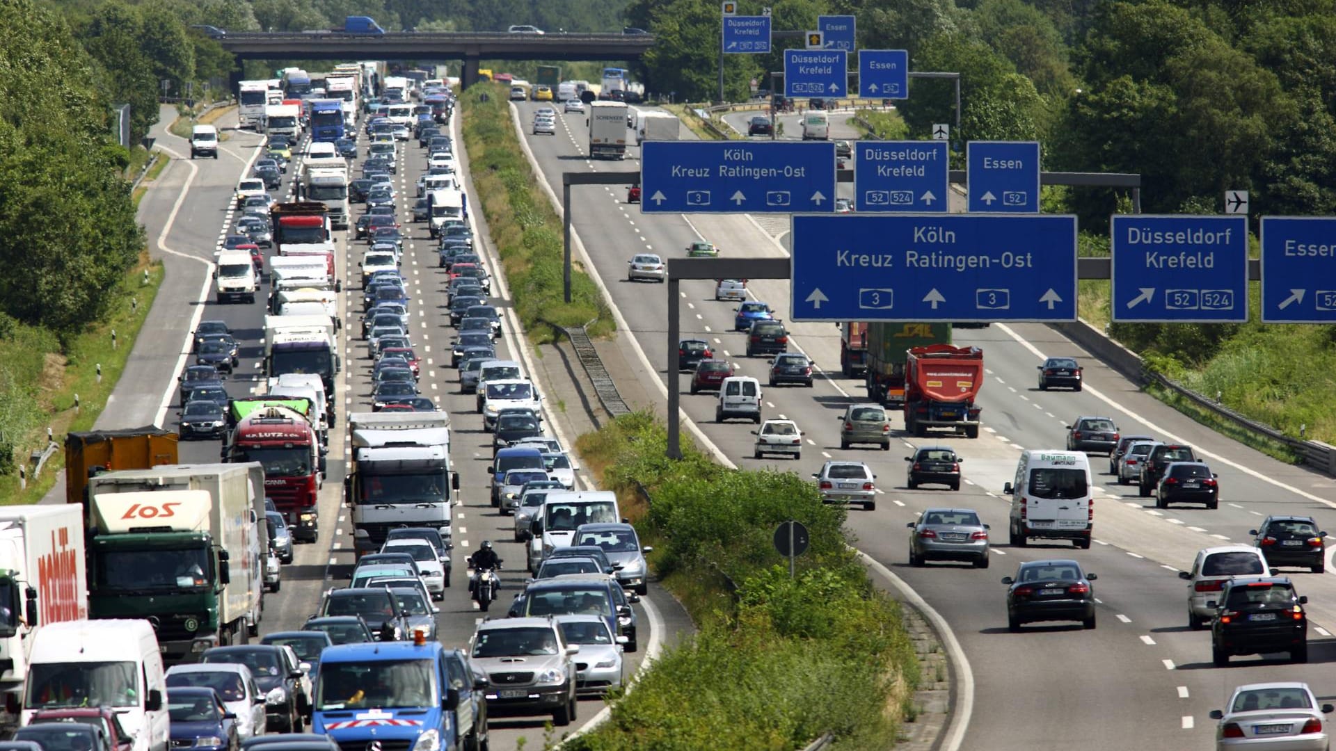
[[[111,707],[135,739],[131,751],[167,751],[158,636],[147,620],[68,620],[41,627],[32,644],[20,724],[39,710]]]

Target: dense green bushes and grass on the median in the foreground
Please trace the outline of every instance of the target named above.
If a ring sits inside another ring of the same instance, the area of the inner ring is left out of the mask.
[[[665,446],[648,413],[577,441],[700,631],[647,668],[607,723],[565,747],[791,751],[831,732],[835,748],[890,748],[915,715],[918,660],[900,604],[848,548],[844,509],[823,505],[796,474],[728,470],[693,446],[668,461]],[[771,543],[786,520],[811,531],[796,579]]]

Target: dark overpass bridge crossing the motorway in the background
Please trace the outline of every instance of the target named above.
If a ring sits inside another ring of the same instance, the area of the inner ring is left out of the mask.
[[[461,60],[461,84],[478,80],[482,60],[639,60],[645,33],[242,32],[215,37],[238,60]],[[238,65],[239,68],[239,65]],[[240,73],[234,73],[240,80]],[[236,80],[232,82],[235,88]]]

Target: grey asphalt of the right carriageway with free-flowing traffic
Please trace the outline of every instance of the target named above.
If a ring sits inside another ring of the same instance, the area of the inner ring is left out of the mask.
[[[528,124],[536,104],[516,108]],[[739,123],[751,114],[729,115]],[[854,138],[836,130],[842,116],[832,116],[831,138]],[[562,171],[631,172],[639,168],[639,148],[623,162],[580,159],[587,150],[582,115],[558,115],[557,135],[526,136],[544,178],[560,195]],[[791,126],[786,132],[794,134]],[[688,131],[683,128],[683,138]],[[633,143],[633,140],[632,140]],[[846,186],[847,187],[847,186]],[[667,398],[663,362],[667,355],[664,287],[628,282],[627,262],[643,251],[664,257],[685,255],[685,246],[708,239],[721,255],[784,257],[787,220],[747,215],[641,215],[625,203],[624,188],[572,188],[573,226],[589,259],[611,294],[623,323],[620,350],[655,396],[660,413]],[[766,381],[767,363],[743,357],[744,341],[732,331],[733,305],[715,302],[712,282],[683,282],[684,338],[700,337],[739,366],[740,374]],[[752,281],[755,299],[770,302],[782,318],[788,311],[787,281]],[[929,486],[907,490],[903,456],[911,441],[896,430],[890,452],[871,448],[839,449],[836,420],[843,408],[864,401],[860,382],[839,377],[839,335],[831,323],[791,323],[791,342],[823,370],[814,388],[764,389],[764,416],[795,420],[807,433],[803,458],[758,461],[752,456],[755,428],[749,422],[719,425],[713,420],[713,394],[689,396],[683,374],[681,404],[689,420],[709,444],[741,468],[816,472],[827,458],[867,462],[878,474],[878,505],[874,512],[850,510],[848,531],[859,549],[871,559],[874,579],[891,573],[908,583],[950,624],[969,660],[974,679],[973,714],[961,748],[1181,750],[1209,747],[1214,722],[1208,712],[1220,708],[1229,691],[1244,683],[1304,680],[1319,696],[1336,696],[1336,676],[1323,663],[1336,660],[1336,579],[1297,569],[1283,569],[1295,587],[1309,597],[1309,664],[1292,665],[1283,659],[1234,657],[1230,667],[1210,664],[1210,636],[1189,631],[1186,583],[1177,573],[1190,567],[1194,553],[1226,541],[1250,543],[1249,529],[1265,514],[1316,516],[1327,528],[1336,521],[1336,482],[1275,461],[1212,433],[1173,409],[1141,394],[1136,386],[1089,357],[1073,342],[1042,325],[993,325],[955,330],[955,343],[985,351],[987,381],[979,404],[983,432],[977,440],[941,437],[919,444],[953,446],[966,461],[959,492]],[[1081,393],[1038,392],[1035,367],[1046,355],[1074,355],[1085,366]],[[663,398],[660,398],[663,397]],[[1061,449],[1066,425],[1078,416],[1113,418],[1122,433],[1145,433],[1188,442],[1198,449],[1218,473],[1218,510],[1200,506],[1154,509],[1150,498],[1136,496],[1134,486],[1118,485],[1104,457],[1092,457],[1098,492],[1094,502],[1096,545],[1078,551],[1066,543],[1013,548],[1007,544],[1009,498],[1001,494],[1011,480],[1023,448]],[[902,425],[896,418],[896,426]],[[684,436],[689,433],[684,429]],[[991,568],[929,564],[910,568],[904,528],[923,509],[969,506],[993,528]],[[1017,564],[1050,557],[1074,557],[1086,571],[1097,572],[1098,628],[1079,624],[1037,624],[1022,633],[1006,627],[1005,588],[999,579]],[[1329,565],[1329,563],[1328,563]],[[959,669],[959,668],[957,668]],[[961,675],[957,687],[959,688]]]

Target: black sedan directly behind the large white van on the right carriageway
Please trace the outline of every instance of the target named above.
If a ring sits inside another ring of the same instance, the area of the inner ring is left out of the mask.
[[[1081,571],[1073,560],[1029,561],[1015,576],[1002,577],[1006,591],[1006,621],[1010,631],[1045,620],[1079,620],[1094,628],[1094,588],[1097,577]]]

